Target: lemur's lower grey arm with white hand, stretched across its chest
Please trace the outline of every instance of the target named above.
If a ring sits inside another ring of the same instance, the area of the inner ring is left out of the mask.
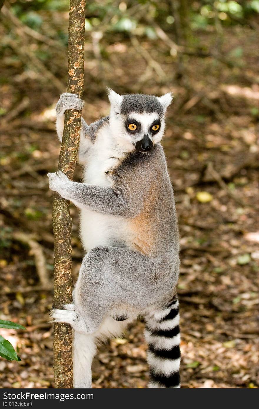
[[[99,213],[131,218],[143,208],[142,192],[132,191],[126,184],[115,184],[112,188],[72,182],[61,171],[48,173],[48,177],[51,190],[81,209],[89,207]]]

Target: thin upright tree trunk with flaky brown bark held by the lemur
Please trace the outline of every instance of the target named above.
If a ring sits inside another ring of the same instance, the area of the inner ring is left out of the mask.
[[[83,94],[83,65],[85,43],[85,0],[70,0],[68,26],[68,82],[67,92]],[[65,112],[63,139],[58,169],[72,179],[77,160],[81,111]],[[54,308],[72,303],[71,235],[72,219],[69,201],[57,193],[53,199],[54,232]],[[55,388],[73,387],[72,328],[68,324],[54,324],[54,382]]]

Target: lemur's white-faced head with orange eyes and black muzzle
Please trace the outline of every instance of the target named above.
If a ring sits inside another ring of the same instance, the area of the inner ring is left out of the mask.
[[[144,94],[119,95],[108,88],[110,130],[117,145],[126,152],[149,152],[164,133],[165,112],[172,101]]]

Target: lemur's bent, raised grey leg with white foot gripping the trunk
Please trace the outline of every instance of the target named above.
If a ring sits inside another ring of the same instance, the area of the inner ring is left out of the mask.
[[[116,306],[119,309],[126,304],[145,310],[161,298],[156,282],[160,270],[158,263],[138,252],[96,247],[83,258],[74,291],[74,308],[69,304],[64,306],[69,310],[54,310],[54,320],[90,334]]]

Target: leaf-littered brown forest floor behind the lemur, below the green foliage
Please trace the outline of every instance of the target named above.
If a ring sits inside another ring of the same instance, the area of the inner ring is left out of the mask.
[[[0,30],[5,38],[6,32]],[[212,57],[184,56],[182,79],[174,76],[176,62],[159,40],[153,44],[143,40],[142,47],[159,61],[162,80],[152,66],[146,71],[145,59],[129,40],[107,40],[102,61],[86,43],[83,116],[88,123],[108,114],[104,85],[122,93],[162,94],[170,89],[175,96],[163,146],[180,227],[184,388],[259,385],[257,34],[247,26],[227,28],[223,50],[233,66]],[[200,36],[215,40],[213,32]],[[240,47],[242,56],[232,53]],[[21,358],[21,362],[0,359],[0,387],[52,388],[53,329],[48,311],[53,294],[41,284],[44,269],[37,264],[43,255],[51,285],[52,193],[46,174],[55,171],[58,162],[54,106],[61,90],[34,70],[33,61],[25,68],[18,51],[4,48],[0,62],[0,294],[1,318],[16,321],[27,331],[0,330]],[[58,76],[56,63],[53,58],[52,71]],[[65,84],[65,53],[59,65]],[[50,70],[51,63],[45,66]],[[80,180],[79,166],[74,179]],[[83,249],[74,206],[71,214],[75,280]],[[144,322],[138,322],[121,338],[101,346],[93,364],[93,387],[146,388],[143,329]]]

